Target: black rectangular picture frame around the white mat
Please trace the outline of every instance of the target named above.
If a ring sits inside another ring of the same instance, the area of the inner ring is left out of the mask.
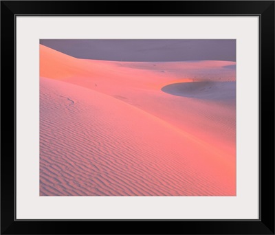
[[[260,219],[18,221],[14,21],[43,14],[259,15]],[[274,234],[274,1],[1,1],[1,234]]]

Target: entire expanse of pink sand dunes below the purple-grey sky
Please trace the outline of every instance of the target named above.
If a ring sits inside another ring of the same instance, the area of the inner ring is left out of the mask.
[[[40,59],[42,196],[236,194],[235,63]]]

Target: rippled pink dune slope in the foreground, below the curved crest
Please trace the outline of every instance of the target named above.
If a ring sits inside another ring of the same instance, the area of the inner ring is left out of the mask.
[[[216,151],[120,100],[41,78],[41,195],[232,194],[234,164]]]

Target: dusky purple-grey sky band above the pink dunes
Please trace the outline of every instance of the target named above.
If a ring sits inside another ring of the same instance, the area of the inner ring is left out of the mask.
[[[234,39],[41,39],[76,58],[115,61],[236,61]]]

